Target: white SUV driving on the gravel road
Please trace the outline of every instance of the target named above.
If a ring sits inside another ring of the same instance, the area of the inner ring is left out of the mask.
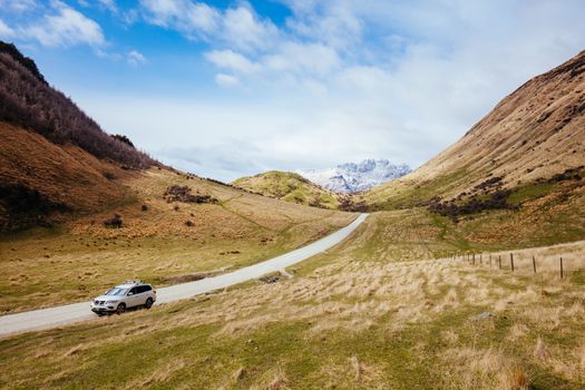
[[[142,281],[127,281],[104,295],[96,298],[89,308],[94,313],[121,314],[128,308],[145,306],[150,309],[156,301],[156,291],[148,283]]]

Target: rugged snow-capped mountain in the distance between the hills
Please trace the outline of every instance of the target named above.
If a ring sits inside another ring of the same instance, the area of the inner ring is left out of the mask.
[[[338,193],[357,193],[410,173],[408,165],[394,165],[388,159],[364,159],[334,168],[296,170],[296,173],[322,187]]]

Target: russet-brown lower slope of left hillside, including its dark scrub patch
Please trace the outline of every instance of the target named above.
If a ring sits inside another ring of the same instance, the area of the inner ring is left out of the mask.
[[[133,202],[119,164],[0,121],[0,232]]]

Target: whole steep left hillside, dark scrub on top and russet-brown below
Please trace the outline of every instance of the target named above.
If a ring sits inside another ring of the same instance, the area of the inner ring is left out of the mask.
[[[154,165],[49,86],[32,59],[0,41],[0,233],[129,202],[118,179]]]

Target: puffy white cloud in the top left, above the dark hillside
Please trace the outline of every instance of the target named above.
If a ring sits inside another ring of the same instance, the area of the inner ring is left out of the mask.
[[[96,21],[60,1],[55,2],[55,6],[57,13],[47,14],[39,22],[21,28],[23,37],[50,47],[105,43],[101,27]]]

